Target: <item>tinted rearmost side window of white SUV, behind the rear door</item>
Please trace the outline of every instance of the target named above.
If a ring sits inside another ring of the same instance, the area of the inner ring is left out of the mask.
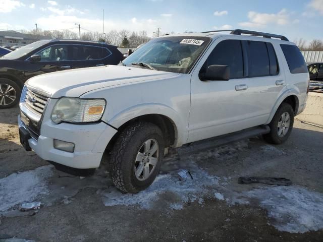
[[[296,45],[281,44],[281,47],[292,74],[308,72],[304,57]]]

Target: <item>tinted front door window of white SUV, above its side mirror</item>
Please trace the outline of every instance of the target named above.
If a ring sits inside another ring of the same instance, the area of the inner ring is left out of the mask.
[[[230,79],[243,77],[243,56],[240,40],[221,41],[208,56],[201,72],[208,66],[224,65],[230,67]]]

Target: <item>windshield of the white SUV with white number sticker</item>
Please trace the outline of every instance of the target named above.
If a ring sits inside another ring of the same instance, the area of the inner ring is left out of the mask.
[[[208,37],[196,36],[153,39],[124,59],[123,64],[139,68],[151,66],[158,71],[188,73],[209,42]]]

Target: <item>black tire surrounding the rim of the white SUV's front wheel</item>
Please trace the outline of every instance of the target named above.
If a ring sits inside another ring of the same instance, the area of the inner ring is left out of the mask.
[[[150,176],[139,180],[135,175],[137,154],[148,139],[154,139],[159,145],[158,160]],[[149,187],[158,174],[164,157],[165,141],[163,133],[154,124],[134,123],[123,130],[118,137],[110,158],[110,173],[115,186],[125,193],[138,193]]]

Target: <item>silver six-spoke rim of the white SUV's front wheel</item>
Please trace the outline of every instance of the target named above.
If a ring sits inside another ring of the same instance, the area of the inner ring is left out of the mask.
[[[154,171],[159,158],[159,145],[155,139],[146,140],[140,147],[135,160],[135,175],[146,180]]]

